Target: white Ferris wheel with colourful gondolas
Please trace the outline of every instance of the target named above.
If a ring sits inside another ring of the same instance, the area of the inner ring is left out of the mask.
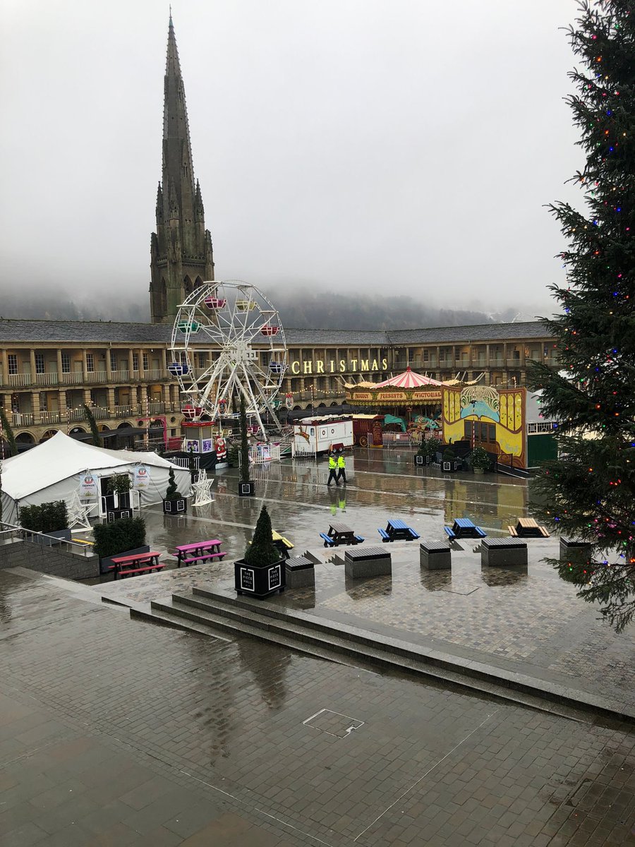
[[[205,282],[192,291],[176,315],[171,352],[186,418],[218,420],[238,412],[243,396],[263,435],[262,414],[278,425],[273,401],[287,369],[284,329],[255,285]]]

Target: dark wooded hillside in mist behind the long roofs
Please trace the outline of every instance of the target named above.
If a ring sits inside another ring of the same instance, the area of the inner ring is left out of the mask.
[[[440,308],[411,296],[378,296],[304,291],[267,290],[278,308],[283,326],[295,329],[420,329],[532,320],[514,309],[484,313],[471,309]],[[74,297],[68,291],[20,290],[5,292],[0,318],[47,320],[103,320],[147,322],[146,296],[108,295]]]

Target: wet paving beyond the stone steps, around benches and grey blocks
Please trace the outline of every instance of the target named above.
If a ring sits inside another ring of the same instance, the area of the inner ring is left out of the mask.
[[[542,561],[557,558],[557,538],[527,540],[528,567],[508,569],[482,567],[478,540],[461,540],[452,551],[451,572],[422,569],[417,541],[395,542],[383,545],[392,556],[392,575],[369,580],[346,579],[319,539],[334,518],[373,545],[388,518],[403,518],[423,540],[443,540],[444,524],[462,517],[490,536],[507,535],[507,525],[527,515],[525,480],[417,471],[411,454],[367,458],[362,451],[352,464],[346,491],[326,488],[322,463],[288,462],[260,473],[256,498],[236,496],[235,473],[229,471],[218,476],[213,503],[185,518],[146,510],[149,543],[163,551],[164,561],[174,562],[172,545],[210,537],[223,540],[227,558],[99,590],[136,603],[166,600],[193,587],[235,596],[232,562],[244,553],[266,502],[273,527],[295,543],[295,551],[309,549],[322,560],[314,590],[288,590],[268,602],[635,707],[635,633],[631,628],[617,635],[599,619],[596,606],[577,599],[575,588]],[[404,496],[395,500],[395,492]],[[374,498],[370,505],[368,498]]]

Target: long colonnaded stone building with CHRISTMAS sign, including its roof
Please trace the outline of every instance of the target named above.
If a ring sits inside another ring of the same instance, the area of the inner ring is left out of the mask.
[[[555,340],[538,321],[285,335],[282,395],[300,409],[340,407],[346,382],[378,382],[408,365],[434,379],[483,374],[484,385],[525,385],[530,360],[556,364]],[[168,372],[170,336],[166,324],[0,319],[0,405],[19,442],[36,444],[59,429],[88,437],[84,404],[105,446],[118,430],[145,429],[148,419],[164,420],[168,436],[180,435],[183,398]],[[218,355],[201,342],[193,346],[200,346],[198,368]]]

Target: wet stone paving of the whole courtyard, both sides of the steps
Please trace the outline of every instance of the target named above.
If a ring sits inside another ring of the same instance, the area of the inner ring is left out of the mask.
[[[333,510],[373,541],[390,516],[439,538],[450,518],[493,534],[526,513],[522,483],[417,476],[406,459],[356,457],[344,505],[308,464],[270,468],[257,493],[299,551],[319,551]],[[149,511],[150,543],[216,536],[240,556],[260,501],[235,496],[232,472],[218,483],[213,504],[180,522]],[[632,634],[597,622],[538,562],[551,542],[537,544],[527,573],[495,576],[461,544],[450,580],[422,575],[416,545],[386,545],[389,582],[346,585],[324,560],[315,593],[279,601],[572,686],[604,679],[626,700]],[[86,586],[0,573],[3,847],[635,844],[635,732],[624,724],[157,627],[102,603],[226,589],[228,574],[221,563]]]

